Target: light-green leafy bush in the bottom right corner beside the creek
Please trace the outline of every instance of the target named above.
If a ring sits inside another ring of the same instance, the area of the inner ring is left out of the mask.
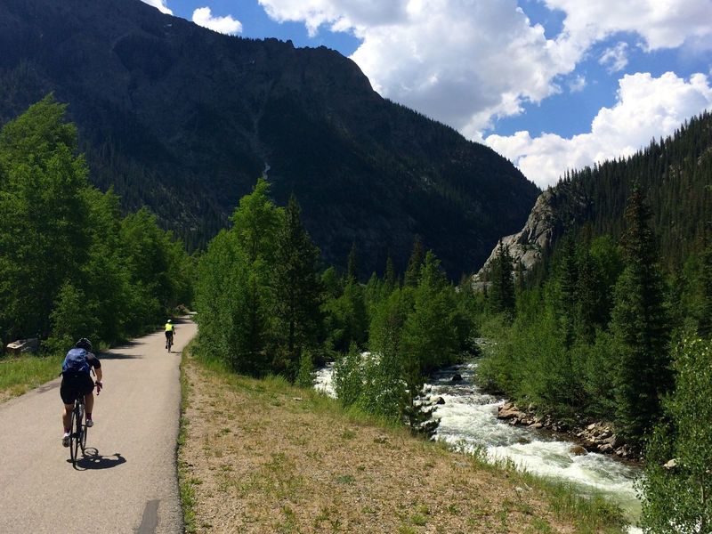
[[[685,339],[674,360],[676,390],[645,450],[641,523],[651,534],[701,534],[712,529],[712,343]]]

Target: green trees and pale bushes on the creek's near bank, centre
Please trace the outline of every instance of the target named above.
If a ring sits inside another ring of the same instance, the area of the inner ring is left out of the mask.
[[[421,407],[425,376],[457,360],[471,335],[465,297],[458,303],[432,251],[418,264],[416,286],[393,287],[372,277],[367,286],[370,351],[353,351],[336,367],[336,392],[345,404],[430,434],[432,409]],[[348,287],[348,286],[347,286]]]

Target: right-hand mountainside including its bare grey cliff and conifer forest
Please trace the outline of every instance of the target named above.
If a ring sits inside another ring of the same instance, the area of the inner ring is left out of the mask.
[[[568,174],[537,200],[522,231],[503,238],[515,262],[533,270],[564,231],[611,234],[624,230],[627,198],[639,187],[654,214],[652,230],[662,263],[680,265],[712,238],[712,113],[703,112],[666,139],[635,155]],[[486,278],[490,258],[475,275]]]

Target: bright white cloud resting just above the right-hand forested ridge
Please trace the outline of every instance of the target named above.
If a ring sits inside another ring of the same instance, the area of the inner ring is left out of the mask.
[[[598,112],[587,134],[565,139],[517,132],[490,135],[485,142],[545,188],[567,169],[631,155],[651,139],[673,134],[686,118],[704,109],[712,109],[712,85],[706,75],[685,80],[672,72],[657,78],[637,73],[619,80],[616,104]]]

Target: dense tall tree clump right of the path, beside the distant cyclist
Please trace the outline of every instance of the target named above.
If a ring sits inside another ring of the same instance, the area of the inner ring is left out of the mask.
[[[283,209],[269,192],[260,178],[240,198],[231,230],[218,234],[200,258],[201,343],[239,372],[307,380],[304,358],[312,358],[322,334],[319,249],[303,228],[296,199]]]

